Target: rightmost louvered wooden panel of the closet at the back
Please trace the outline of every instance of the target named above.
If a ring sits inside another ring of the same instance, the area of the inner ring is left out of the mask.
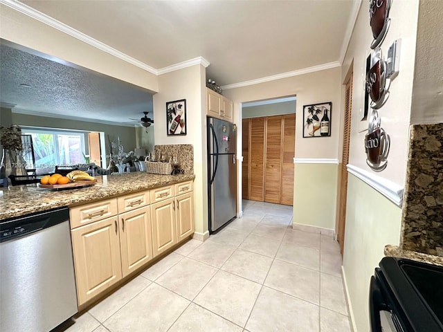
[[[296,150],[296,115],[283,116],[282,180],[280,203],[293,205],[293,157]]]

